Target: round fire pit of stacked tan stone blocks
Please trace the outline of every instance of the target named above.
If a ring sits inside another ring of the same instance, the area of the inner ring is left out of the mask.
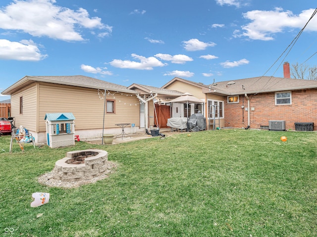
[[[67,152],[65,158],[55,162],[54,179],[67,182],[93,179],[112,167],[107,160],[108,153],[103,150]]]

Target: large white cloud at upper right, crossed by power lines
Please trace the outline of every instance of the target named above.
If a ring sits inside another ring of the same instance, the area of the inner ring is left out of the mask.
[[[283,11],[282,8],[271,11],[248,11],[243,14],[243,17],[251,22],[241,27],[242,32],[235,30],[233,36],[235,38],[248,37],[252,40],[273,40],[275,33],[282,33],[286,29],[302,29],[314,10],[303,10],[299,15],[291,11]],[[305,29],[317,31],[317,18],[313,18]]]

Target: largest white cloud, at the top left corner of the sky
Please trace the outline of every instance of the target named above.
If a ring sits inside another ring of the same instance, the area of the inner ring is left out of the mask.
[[[55,3],[56,0],[14,0],[0,9],[0,28],[65,41],[84,40],[77,27],[111,33],[112,27],[104,25],[99,17],[90,18],[86,9],[71,10]]]

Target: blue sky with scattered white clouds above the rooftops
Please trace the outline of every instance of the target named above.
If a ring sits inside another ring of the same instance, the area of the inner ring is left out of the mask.
[[[312,16],[312,0],[1,0],[0,91],[24,76],[84,75],[160,87],[263,76]],[[317,17],[282,64],[317,52]],[[316,66],[317,55],[306,64]],[[0,101],[8,99],[0,96]]]

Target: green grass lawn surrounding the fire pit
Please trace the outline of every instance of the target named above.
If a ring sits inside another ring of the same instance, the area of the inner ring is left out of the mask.
[[[190,135],[58,149],[26,145],[24,153],[15,144],[12,154],[10,137],[0,137],[0,234],[317,236],[316,132],[227,129]],[[108,178],[75,189],[37,182],[66,152],[91,148],[106,150],[118,163]],[[49,203],[30,207],[34,192],[50,193]]]

